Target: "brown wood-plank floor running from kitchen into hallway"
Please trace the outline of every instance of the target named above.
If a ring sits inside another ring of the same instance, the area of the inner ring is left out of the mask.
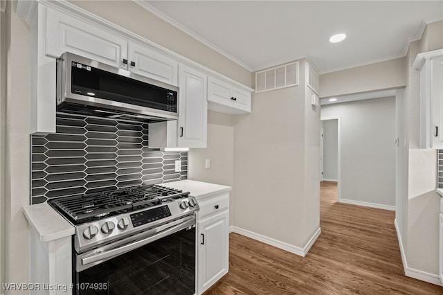
[[[204,295],[443,294],[443,287],[404,276],[395,213],[336,202],[321,185],[321,235],[305,258],[230,233],[230,265]]]

